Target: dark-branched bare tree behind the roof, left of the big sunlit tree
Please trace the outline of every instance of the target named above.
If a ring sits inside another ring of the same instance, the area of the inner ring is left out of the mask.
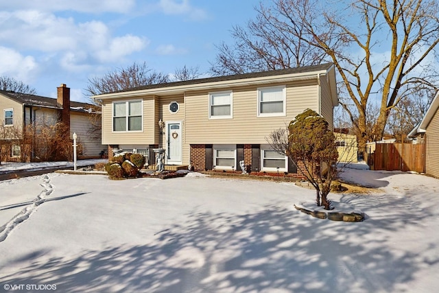
[[[294,5],[300,14],[309,19],[320,17],[320,12],[309,9],[306,2],[292,1],[288,5]],[[266,7],[261,2],[254,8],[258,12],[254,21],[248,21],[246,27],[233,27],[231,34],[235,44],[232,47],[226,43],[217,45],[219,53],[215,62],[211,63],[214,75],[317,65],[324,60],[324,51],[302,40],[306,25],[296,22],[292,14],[278,8],[282,7]],[[285,30],[285,22],[294,23],[294,26]]]

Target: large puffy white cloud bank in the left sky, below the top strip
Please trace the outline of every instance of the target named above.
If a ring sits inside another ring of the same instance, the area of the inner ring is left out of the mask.
[[[5,23],[8,25],[3,26]],[[145,38],[131,34],[112,36],[108,26],[101,21],[75,23],[72,18],[36,10],[3,12],[0,26],[3,28],[1,43],[62,56],[62,67],[70,71],[86,69],[84,62],[112,62],[124,58],[148,44]]]

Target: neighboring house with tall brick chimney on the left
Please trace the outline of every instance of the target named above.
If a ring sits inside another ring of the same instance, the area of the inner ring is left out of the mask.
[[[13,91],[0,91],[0,123],[3,129],[16,128],[23,130],[29,124],[43,123],[55,124],[62,121],[67,129],[70,128],[70,137],[73,132],[78,135],[82,156],[99,156],[99,152],[106,149],[101,144],[100,130],[91,134],[93,128],[91,117],[98,115],[97,121],[100,121],[100,112],[97,106],[92,104],[70,101],[70,89],[61,84],[58,88],[58,97],[41,97],[38,95],[29,95],[25,93],[15,93]],[[98,110],[98,111],[97,111]],[[100,125],[98,125],[100,126]],[[1,137],[0,144],[3,145],[6,137]],[[21,150],[19,145],[10,146],[10,154],[5,157],[8,161],[19,161]],[[32,146],[30,146],[32,149]],[[34,159],[32,156],[29,159]]]

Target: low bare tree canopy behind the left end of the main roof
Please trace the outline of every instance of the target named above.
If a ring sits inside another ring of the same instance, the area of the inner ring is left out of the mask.
[[[167,75],[153,71],[146,65],[146,62],[141,64],[134,62],[126,68],[106,73],[102,78],[89,78],[85,91],[88,96],[92,96],[168,81]]]

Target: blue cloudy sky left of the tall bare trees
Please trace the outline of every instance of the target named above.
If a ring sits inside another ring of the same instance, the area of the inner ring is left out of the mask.
[[[254,19],[256,0],[0,1],[0,75],[56,97],[67,84],[86,102],[88,78],[133,62],[166,74],[185,65],[208,73],[215,45]]]

